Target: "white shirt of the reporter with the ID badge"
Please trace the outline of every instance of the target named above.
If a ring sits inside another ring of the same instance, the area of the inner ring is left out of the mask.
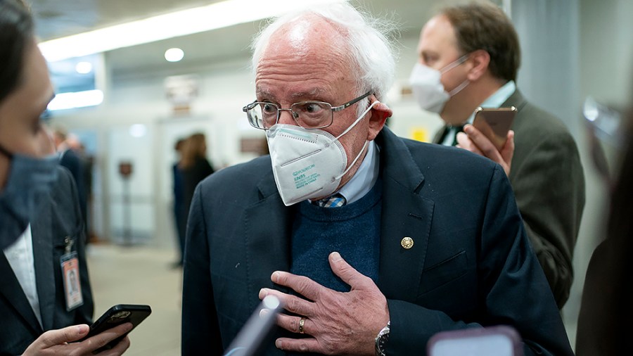
[[[18,240],[5,248],[3,252],[41,326],[39,297],[37,296],[37,285],[35,284],[35,258],[33,256],[31,224],[28,224],[27,229],[18,237]]]

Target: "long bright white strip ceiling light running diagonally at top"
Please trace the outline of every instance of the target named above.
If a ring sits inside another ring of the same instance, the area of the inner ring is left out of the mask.
[[[122,23],[41,42],[47,61],[86,56],[172,37],[249,23],[281,15],[308,5],[326,6],[343,0],[228,0],[152,18]]]

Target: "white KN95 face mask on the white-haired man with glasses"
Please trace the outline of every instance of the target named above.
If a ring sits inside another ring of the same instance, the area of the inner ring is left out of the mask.
[[[275,183],[284,205],[329,196],[336,191],[340,179],[354,166],[369,143],[365,142],[348,167],[345,148],[338,139],[350,132],[378,102],[371,103],[337,137],[321,129],[286,124],[273,125],[266,131]]]

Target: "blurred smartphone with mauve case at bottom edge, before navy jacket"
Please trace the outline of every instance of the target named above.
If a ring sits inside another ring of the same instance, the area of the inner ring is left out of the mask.
[[[511,326],[442,331],[427,345],[429,356],[523,356],[518,332]]]

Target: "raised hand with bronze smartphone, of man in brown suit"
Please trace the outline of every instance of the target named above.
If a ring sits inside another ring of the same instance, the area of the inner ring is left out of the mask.
[[[457,134],[458,147],[483,155],[510,174],[514,155],[514,132],[510,129],[516,108],[477,108],[473,125],[463,127]]]

